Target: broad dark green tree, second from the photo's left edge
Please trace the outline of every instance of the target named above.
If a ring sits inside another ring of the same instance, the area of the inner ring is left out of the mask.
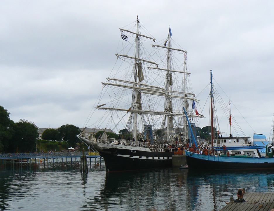
[[[39,137],[38,128],[29,122],[18,122],[13,126],[11,152],[34,152]]]

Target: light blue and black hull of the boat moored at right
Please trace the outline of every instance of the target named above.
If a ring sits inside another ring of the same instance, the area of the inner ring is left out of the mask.
[[[189,169],[274,169],[274,158],[237,158],[200,155],[186,151]]]

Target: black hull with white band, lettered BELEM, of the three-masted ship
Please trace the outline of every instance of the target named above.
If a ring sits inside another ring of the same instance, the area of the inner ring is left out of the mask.
[[[137,171],[172,167],[174,152],[152,152],[148,147],[94,142],[81,137],[103,157],[106,171]]]

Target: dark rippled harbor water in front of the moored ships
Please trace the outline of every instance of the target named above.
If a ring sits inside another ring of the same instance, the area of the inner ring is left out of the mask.
[[[238,188],[273,192],[274,173],[179,168],[106,173],[102,160],[86,174],[77,162],[16,164],[1,166],[0,210],[220,210]]]

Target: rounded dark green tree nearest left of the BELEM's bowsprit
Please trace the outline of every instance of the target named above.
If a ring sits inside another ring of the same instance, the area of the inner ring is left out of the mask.
[[[70,144],[73,147],[75,146],[77,142],[77,135],[79,135],[81,132],[79,127],[76,127],[74,125],[69,125],[69,124],[58,127],[57,131],[59,133],[58,140],[67,141],[68,144]]]

